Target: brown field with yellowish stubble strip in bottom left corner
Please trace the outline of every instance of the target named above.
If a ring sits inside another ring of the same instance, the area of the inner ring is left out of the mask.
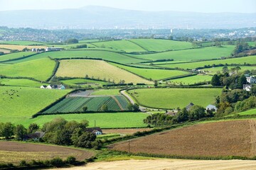
[[[50,145],[37,145],[21,142],[0,142],[0,163],[18,164],[21,160],[46,160],[60,157],[66,159],[69,156],[83,161],[92,157],[93,152],[68,147]]]

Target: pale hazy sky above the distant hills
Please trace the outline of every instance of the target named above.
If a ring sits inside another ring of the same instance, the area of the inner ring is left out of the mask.
[[[256,13],[256,0],[0,0],[0,11],[111,6],[142,11]]]

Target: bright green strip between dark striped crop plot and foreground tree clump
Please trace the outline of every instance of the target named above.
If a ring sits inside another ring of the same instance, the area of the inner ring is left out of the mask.
[[[41,115],[37,118],[25,120],[21,122],[23,125],[28,127],[31,123],[43,123],[50,122],[56,117],[65,118],[65,120],[88,120],[89,127],[96,125],[100,128],[141,128],[146,127],[143,123],[143,119],[146,118],[146,113],[85,113],[85,114],[68,114],[68,115]],[[104,131],[104,130],[103,130]]]

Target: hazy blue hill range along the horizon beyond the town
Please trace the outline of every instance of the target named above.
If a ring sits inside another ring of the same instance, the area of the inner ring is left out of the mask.
[[[250,28],[256,13],[132,11],[103,6],[0,11],[0,26],[29,28]]]

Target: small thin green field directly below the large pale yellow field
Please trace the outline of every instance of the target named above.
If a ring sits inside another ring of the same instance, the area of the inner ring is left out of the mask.
[[[81,86],[81,87],[88,87],[88,86],[97,87],[97,86],[109,84],[106,81],[96,81],[91,79],[68,79],[68,80],[62,80],[61,82],[69,86]]]

